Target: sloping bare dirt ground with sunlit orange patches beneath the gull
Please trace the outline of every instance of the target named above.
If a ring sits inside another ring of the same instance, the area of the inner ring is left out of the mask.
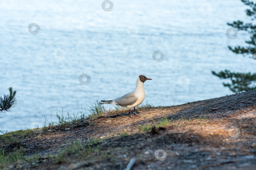
[[[36,163],[17,162],[6,168],[121,170],[134,157],[133,170],[256,169],[255,90],[138,112],[140,117],[136,118],[124,111],[81,120],[69,130],[50,127],[38,137],[27,136],[15,144],[2,143],[9,152],[21,146],[25,156],[40,155]],[[169,125],[142,130],[145,125],[157,125],[164,117],[172,119]],[[94,151],[86,156],[66,154],[64,161],[47,156],[64,151],[75,141],[83,143],[95,138],[102,140],[92,145]]]

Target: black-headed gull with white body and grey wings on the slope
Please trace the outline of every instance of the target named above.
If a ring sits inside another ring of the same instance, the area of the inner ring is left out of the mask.
[[[101,100],[101,102],[103,102],[101,104],[115,104],[122,107],[126,107],[130,109],[130,113],[131,113],[131,109],[134,107],[134,111],[135,111],[135,107],[140,105],[145,98],[144,82],[146,80],[152,80],[152,79],[147,78],[146,76],[140,75],[137,78],[136,88],[132,92],[127,93],[122,97],[118,97],[113,100]],[[138,116],[136,114],[136,111],[135,111],[135,116]]]

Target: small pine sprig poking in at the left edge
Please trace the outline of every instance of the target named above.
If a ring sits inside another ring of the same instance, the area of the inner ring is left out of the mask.
[[[16,90],[13,91],[12,87],[9,87],[9,93],[8,95],[3,94],[3,98],[0,96],[0,112],[10,111],[10,108],[14,106]]]

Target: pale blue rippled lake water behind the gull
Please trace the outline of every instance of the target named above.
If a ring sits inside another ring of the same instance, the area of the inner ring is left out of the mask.
[[[232,94],[211,71],[255,71],[249,57],[228,49],[249,37],[226,36],[227,22],[250,22],[240,0],[113,1],[109,12],[102,2],[0,3],[0,95],[17,91],[0,130],[42,126],[62,108],[78,113],[93,99],[116,98],[141,74],[153,79],[144,83],[144,103],[169,106]],[[152,57],[157,50],[162,62]]]

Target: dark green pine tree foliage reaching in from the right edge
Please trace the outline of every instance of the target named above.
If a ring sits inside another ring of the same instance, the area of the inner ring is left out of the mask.
[[[241,0],[242,3],[250,7],[246,10],[246,14],[250,17],[251,20],[256,18],[256,3],[250,0]],[[253,23],[244,23],[243,21],[237,20],[233,21],[233,23],[227,23],[227,25],[235,28],[237,31],[247,31],[250,36],[250,40],[245,41],[248,44],[247,47],[230,47],[229,50],[236,54],[243,54],[244,56],[247,54],[252,57],[252,54],[256,53],[256,25]],[[251,73],[235,73],[230,72],[229,70],[220,71],[216,73],[212,71],[212,74],[221,78],[221,79],[230,79],[231,83],[224,83],[224,87],[228,87],[234,93],[241,93],[243,91],[250,91],[256,89],[256,74]]]

